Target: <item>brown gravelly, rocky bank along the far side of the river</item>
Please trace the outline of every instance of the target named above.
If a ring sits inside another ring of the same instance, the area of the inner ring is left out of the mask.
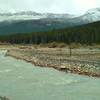
[[[6,56],[12,56],[31,62],[36,66],[52,67],[60,71],[100,77],[99,51],[69,50],[64,48],[17,48],[8,50]]]

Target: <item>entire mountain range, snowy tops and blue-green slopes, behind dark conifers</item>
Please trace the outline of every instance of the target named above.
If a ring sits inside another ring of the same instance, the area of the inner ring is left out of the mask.
[[[96,21],[100,21],[100,8],[91,9],[78,17],[33,11],[0,13],[0,34],[43,32]]]

